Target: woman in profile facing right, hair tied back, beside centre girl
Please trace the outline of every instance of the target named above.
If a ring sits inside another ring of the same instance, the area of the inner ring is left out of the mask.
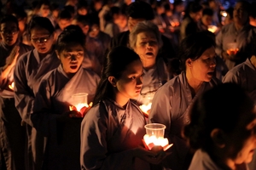
[[[190,106],[204,91],[221,83],[213,77],[216,67],[214,41],[205,32],[183,39],[179,59],[182,73],[156,92],[149,114],[149,122],[166,125],[165,135],[173,146],[172,154],[163,161],[163,166],[174,170],[189,166],[189,148],[181,132],[189,122]]]

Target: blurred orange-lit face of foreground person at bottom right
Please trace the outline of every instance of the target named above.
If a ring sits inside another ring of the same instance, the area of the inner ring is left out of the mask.
[[[256,149],[256,107],[241,116],[240,122],[229,137],[226,145],[230,146],[231,161],[234,164],[252,161]]]

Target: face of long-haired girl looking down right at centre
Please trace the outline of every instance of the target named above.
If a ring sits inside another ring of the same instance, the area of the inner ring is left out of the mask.
[[[143,64],[137,59],[130,65],[126,66],[126,70],[116,82],[118,89],[117,94],[125,99],[135,99],[141,92],[143,86]]]

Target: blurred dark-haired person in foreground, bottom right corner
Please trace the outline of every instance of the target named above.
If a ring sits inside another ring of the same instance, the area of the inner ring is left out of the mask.
[[[256,149],[256,108],[242,88],[212,88],[195,101],[189,117],[183,133],[196,150],[189,170],[248,169]]]

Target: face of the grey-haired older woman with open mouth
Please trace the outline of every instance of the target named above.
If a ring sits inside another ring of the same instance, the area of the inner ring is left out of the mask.
[[[141,32],[137,34],[137,42],[134,51],[142,60],[156,59],[159,43],[153,32]]]

